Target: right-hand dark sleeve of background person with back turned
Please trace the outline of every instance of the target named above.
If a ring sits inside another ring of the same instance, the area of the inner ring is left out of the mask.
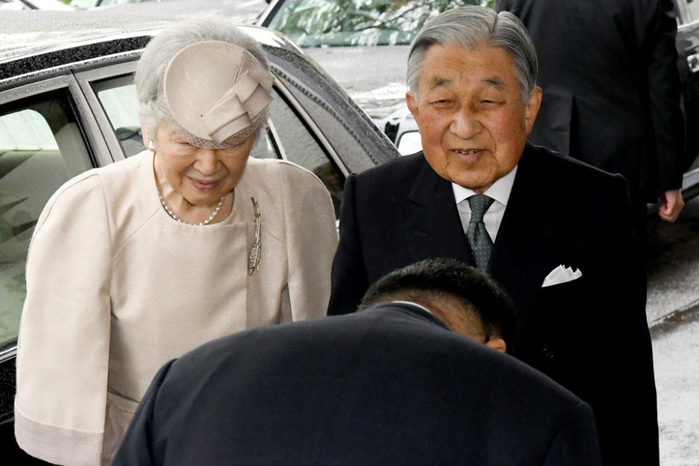
[[[682,187],[684,117],[680,108],[682,85],[677,70],[677,20],[672,1],[652,1],[652,19],[647,27],[647,80],[651,119],[658,154],[659,191]]]

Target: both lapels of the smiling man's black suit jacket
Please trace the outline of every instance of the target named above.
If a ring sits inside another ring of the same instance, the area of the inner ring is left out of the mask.
[[[546,191],[547,173],[539,154],[526,145],[510,200],[493,245],[488,272],[517,303],[520,321],[532,307],[543,278],[551,270],[551,251],[560,230]],[[430,257],[453,257],[473,265],[468,240],[454,202],[451,183],[421,159],[405,208],[405,263]],[[556,264],[558,265],[558,264]]]

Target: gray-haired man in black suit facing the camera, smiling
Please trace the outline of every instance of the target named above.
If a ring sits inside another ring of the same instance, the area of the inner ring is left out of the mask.
[[[407,95],[424,152],[348,177],[329,314],[352,312],[408,263],[473,263],[514,298],[514,355],[591,404],[606,463],[656,463],[646,282],[626,184],[525,142],[542,96],[536,72],[511,13],[467,6],[424,26]]]

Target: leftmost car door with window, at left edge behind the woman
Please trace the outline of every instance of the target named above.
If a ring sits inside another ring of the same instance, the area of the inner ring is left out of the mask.
[[[12,458],[14,452],[21,464],[34,462],[13,442],[24,265],[48,198],[69,178],[101,163],[92,155],[94,138],[84,137],[91,126],[82,120],[86,110],[75,80],[65,73],[0,92],[0,439],[4,454]]]

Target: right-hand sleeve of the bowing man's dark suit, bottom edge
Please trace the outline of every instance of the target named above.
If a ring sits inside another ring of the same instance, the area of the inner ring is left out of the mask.
[[[580,402],[561,423],[542,461],[543,466],[601,465],[600,445],[592,409]]]

